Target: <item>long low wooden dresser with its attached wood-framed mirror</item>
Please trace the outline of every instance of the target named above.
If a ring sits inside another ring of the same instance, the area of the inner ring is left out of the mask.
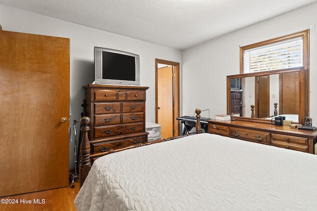
[[[227,114],[208,120],[208,132],[315,154],[317,131],[298,129],[309,117],[309,78],[304,68],[227,76]],[[284,116],[288,124],[274,125]],[[292,125],[289,125],[289,122]]]

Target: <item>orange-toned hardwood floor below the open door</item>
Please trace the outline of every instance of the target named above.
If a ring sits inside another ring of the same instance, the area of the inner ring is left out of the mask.
[[[53,190],[1,197],[0,211],[76,211],[74,200],[78,191],[79,182],[76,181],[75,188],[69,185]],[[3,204],[3,201],[10,204]]]

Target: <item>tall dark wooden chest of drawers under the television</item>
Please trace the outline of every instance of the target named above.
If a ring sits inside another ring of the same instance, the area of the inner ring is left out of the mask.
[[[145,86],[88,84],[85,116],[91,119],[89,140],[94,159],[116,147],[148,141],[145,131]]]

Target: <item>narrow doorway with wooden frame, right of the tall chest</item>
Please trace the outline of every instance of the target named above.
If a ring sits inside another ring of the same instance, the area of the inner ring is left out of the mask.
[[[162,138],[179,135],[179,63],[156,59],[156,123]]]

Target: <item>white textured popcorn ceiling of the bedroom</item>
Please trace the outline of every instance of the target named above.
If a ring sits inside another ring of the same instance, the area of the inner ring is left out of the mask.
[[[317,0],[0,0],[60,20],[177,49]]]

